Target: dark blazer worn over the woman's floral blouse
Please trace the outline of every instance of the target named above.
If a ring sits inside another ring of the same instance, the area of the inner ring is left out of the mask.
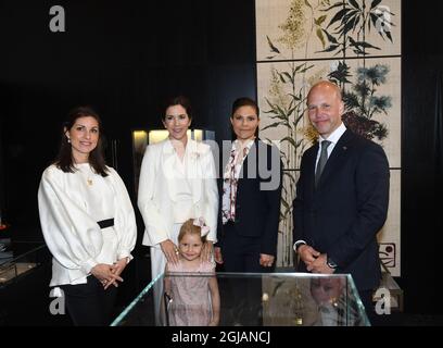
[[[225,149],[225,152],[227,151],[230,152],[230,147]],[[229,154],[224,153],[221,158],[223,171],[219,179],[220,207],[223,199],[223,173],[229,160]],[[261,253],[274,256],[277,253],[280,217],[281,167],[279,150],[275,146],[256,139],[244,159],[236,199],[235,227],[238,234],[246,237],[260,237]],[[225,231],[221,224],[221,214],[218,220],[217,245],[223,248]]]

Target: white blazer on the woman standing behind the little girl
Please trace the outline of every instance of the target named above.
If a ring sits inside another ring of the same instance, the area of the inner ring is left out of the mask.
[[[210,146],[188,138],[186,177],[192,191],[194,216],[203,216],[210,227],[207,240],[217,241],[218,189]],[[175,150],[169,139],[148,146],[141,163],[138,207],[144,222],[142,244],[159,246],[172,239],[173,203],[177,197]]]

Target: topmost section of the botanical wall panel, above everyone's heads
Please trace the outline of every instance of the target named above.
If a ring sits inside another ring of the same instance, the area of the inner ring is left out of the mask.
[[[401,54],[401,0],[255,3],[257,61]]]

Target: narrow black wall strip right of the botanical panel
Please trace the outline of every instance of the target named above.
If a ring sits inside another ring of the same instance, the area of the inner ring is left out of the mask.
[[[443,4],[403,1],[402,279],[409,312],[443,313],[438,270],[443,246],[435,195],[434,114],[443,71]]]

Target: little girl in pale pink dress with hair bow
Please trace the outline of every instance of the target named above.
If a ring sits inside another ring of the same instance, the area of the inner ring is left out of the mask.
[[[201,256],[208,231],[202,217],[185,222],[178,235],[178,262],[166,263],[165,294],[172,326],[218,325],[220,297],[215,263]]]

